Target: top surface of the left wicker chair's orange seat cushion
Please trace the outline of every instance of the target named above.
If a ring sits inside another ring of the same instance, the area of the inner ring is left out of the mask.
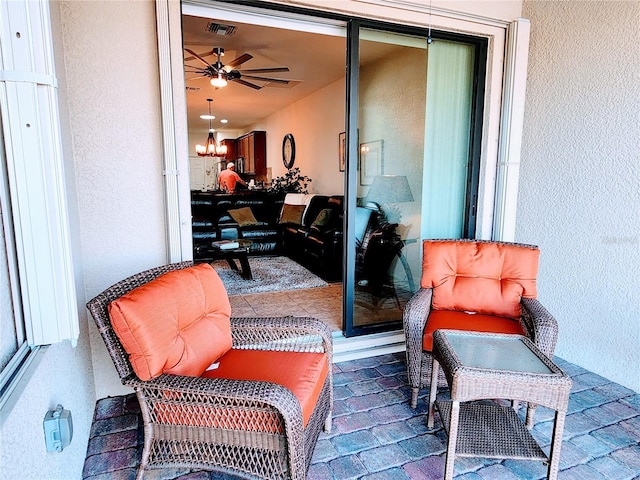
[[[271,350],[230,350],[218,360],[218,368],[206,371],[206,378],[257,380],[277,383],[300,401],[306,427],[329,372],[324,353]]]

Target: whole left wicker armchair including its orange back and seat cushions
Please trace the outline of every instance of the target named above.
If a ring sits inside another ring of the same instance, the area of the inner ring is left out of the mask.
[[[87,308],[140,402],[138,479],[146,469],[180,467],[306,477],[320,430],[331,426],[332,339],[324,323],[229,318],[215,271],[191,262],[133,275]]]

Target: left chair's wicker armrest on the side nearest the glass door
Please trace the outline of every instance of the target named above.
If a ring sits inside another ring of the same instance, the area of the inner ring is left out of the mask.
[[[324,352],[332,357],[332,335],[327,324],[309,317],[231,318],[234,348]]]

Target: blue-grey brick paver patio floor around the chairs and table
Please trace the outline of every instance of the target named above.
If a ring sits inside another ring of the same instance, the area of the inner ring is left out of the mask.
[[[559,478],[640,479],[640,394],[577,365],[555,360],[573,379]],[[426,391],[421,392],[416,410],[409,407],[403,353],[337,363],[333,375],[333,431],[321,434],[318,440],[309,480],[442,478],[446,435],[438,417],[435,431],[427,431]],[[547,453],[552,424],[552,412],[539,407],[533,435]],[[135,396],[99,400],[84,479],[133,479],[141,444]],[[530,461],[467,458],[456,460],[455,465],[458,480],[537,480],[546,475],[542,463]],[[146,478],[233,477],[155,470]]]

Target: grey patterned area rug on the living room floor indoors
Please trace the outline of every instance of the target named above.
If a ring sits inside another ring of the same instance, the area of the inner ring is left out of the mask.
[[[226,260],[211,262],[229,295],[326,287],[327,282],[288,257],[249,257],[253,280],[244,280]]]

